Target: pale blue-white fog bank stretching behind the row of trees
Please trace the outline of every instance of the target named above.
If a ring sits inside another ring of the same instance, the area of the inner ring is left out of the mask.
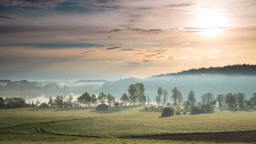
[[[49,96],[55,98],[59,94],[72,94],[74,99],[84,92],[90,94],[98,94],[100,92],[110,93],[119,100],[122,94],[127,92],[128,86],[141,82],[145,86],[145,94],[154,102],[157,95],[157,88],[162,87],[169,91],[169,100],[171,89],[175,86],[182,92],[184,100],[187,99],[188,92],[193,90],[196,100],[200,101],[200,97],[206,92],[212,92],[215,96],[218,94],[244,93],[246,99],[249,99],[256,92],[256,76],[245,75],[173,75],[173,76],[157,76],[149,78],[126,78],[117,81],[100,81],[100,82],[56,82],[60,85],[58,90],[1,90],[1,97],[23,97],[26,100],[36,100],[40,102],[48,102]],[[43,86],[50,82],[44,82]],[[2,84],[4,86],[4,84]],[[64,87],[66,86],[66,87]],[[78,87],[81,87],[78,89]]]

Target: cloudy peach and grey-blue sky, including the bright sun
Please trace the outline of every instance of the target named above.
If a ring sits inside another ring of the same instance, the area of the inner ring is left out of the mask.
[[[145,78],[256,64],[255,0],[0,0],[0,79]]]

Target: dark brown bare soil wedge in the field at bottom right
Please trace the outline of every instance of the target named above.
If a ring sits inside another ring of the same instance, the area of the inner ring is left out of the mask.
[[[197,134],[171,134],[158,136],[140,136],[134,138],[157,140],[193,140],[193,141],[217,141],[217,142],[256,142],[256,131],[242,132],[214,132]]]

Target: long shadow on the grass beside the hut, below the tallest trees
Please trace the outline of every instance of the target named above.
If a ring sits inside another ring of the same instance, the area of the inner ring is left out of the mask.
[[[90,112],[95,112],[97,114],[111,114],[111,113],[115,113],[115,112],[121,112],[123,110],[128,110],[128,109],[132,109],[132,108],[137,108],[140,106],[117,106],[117,107],[110,107],[108,110],[92,110]]]

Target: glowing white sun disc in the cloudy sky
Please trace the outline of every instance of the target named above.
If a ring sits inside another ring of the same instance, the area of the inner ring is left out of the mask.
[[[204,31],[204,34],[216,35],[221,31],[222,27],[227,26],[227,20],[223,14],[205,12],[198,15],[194,25]]]

